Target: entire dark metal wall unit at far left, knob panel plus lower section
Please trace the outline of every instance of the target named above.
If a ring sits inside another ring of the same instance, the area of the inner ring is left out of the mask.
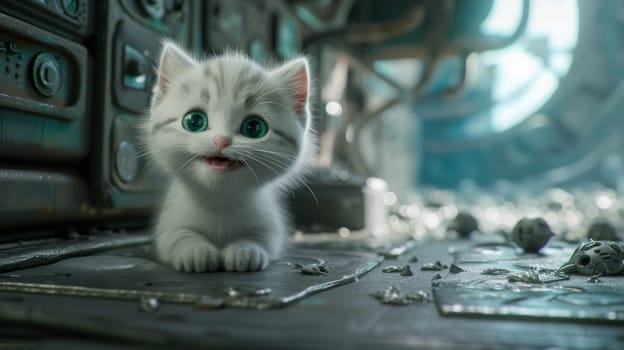
[[[0,227],[92,213],[80,176],[90,146],[88,50],[47,30],[63,25],[40,28],[4,12],[17,3],[0,6]]]

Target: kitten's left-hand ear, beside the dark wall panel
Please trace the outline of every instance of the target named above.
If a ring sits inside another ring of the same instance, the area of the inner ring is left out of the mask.
[[[165,42],[158,64],[158,83],[154,87],[156,96],[162,96],[169,90],[169,85],[182,71],[195,67],[197,62],[173,42]]]

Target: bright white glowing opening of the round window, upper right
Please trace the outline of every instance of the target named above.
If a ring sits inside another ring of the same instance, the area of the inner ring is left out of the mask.
[[[522,1],[495,0],[481,32],[508,37],[520,24]],[[526,29],[512,45],[480,55],[494,69],[496,107],[490,116],[494,132],[508,130],[532,116],[559,87],[572,64],[578,42],[579,13],[575,0],[531,1]]]

